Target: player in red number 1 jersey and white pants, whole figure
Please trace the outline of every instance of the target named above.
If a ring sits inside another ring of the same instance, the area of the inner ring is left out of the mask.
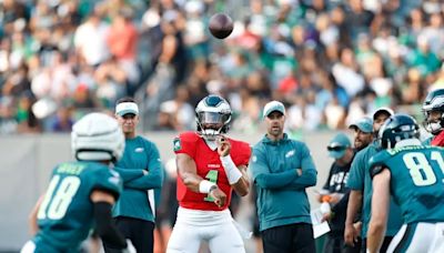
[[[221,97],[204,98],[195,113],[198,131],[174,140],[179,210],[167,252],[195,253],[202,241],[213,253],[245,252],[228,206],[232,190],[241,196],[249,192],[250,145],[223,135],[231,108]]]

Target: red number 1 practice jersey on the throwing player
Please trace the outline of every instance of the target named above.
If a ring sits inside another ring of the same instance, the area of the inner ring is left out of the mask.
[[[228,139],[231,143],[230,155],[236,166],[248,165],[251,149],[245,142]],[[221,211],[230,205],[232,188],[222,166],[218,151],[208,146],[203,138],[195,132],[184,132],[174,140],[174,152],[190,155],[195,162],[196,173],[202,179],[216,183],[226,194],[225,205],[219,208],[208,194],[189,190],[181,176],[178,176],[178,201],[180,206],[193,210]]]

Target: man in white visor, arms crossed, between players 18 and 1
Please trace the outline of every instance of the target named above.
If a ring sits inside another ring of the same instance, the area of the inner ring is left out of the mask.
[[[153,189],[163,183],[162,164],[155,144],[137,135],[139,108],[132,98],[123,98],[115,105],[115,118],[125,136],[122,159],[115,171],[123,179],[123,191],[113,209],[119,230],[130,239],[138,252],[153,252],[155,203]],[[104,243],[107,253],[114,253]]]

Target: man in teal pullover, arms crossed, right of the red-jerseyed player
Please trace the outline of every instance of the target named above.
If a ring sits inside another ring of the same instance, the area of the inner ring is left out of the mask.
[[[283,132],[285,108],[263,110],[265,136],[254,145],[250,170],[258,189],[258,215],[264,253],[315,252],[305,189],[316,184],[307,146]]]

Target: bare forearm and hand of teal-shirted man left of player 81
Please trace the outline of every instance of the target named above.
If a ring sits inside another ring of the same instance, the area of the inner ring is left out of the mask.
[[[359,231],[354,227],[354,221],[357,212],[362,206],[362,191],[351,190],[349,196],[349,205],[346,210],[344,241],[347,245],[354,246],[360,236]]]

